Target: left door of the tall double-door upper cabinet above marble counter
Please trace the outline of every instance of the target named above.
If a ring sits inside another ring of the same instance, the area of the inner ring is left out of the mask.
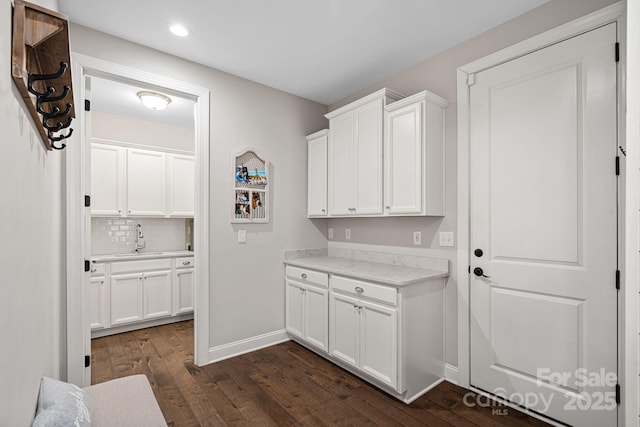
[[[329,215],[352,215],[355,208],[353,112],[331,120],[329,130]]]

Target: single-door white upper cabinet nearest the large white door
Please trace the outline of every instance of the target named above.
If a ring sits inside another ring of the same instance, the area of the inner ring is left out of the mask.
[[[385,215],[444,215],[444,110],[424,91],[385,106]]]

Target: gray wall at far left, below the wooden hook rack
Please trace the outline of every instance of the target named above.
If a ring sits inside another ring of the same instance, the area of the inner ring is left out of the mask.
[[[64,152],[44,149],[11,80],[11,17],[0,1],[0,425],[13,427],[31,425],[43,375],[66,377],[66,343]]]

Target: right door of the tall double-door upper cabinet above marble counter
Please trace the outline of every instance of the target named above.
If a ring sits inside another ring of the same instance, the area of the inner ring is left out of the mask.
[[[382,213],[382,100],[363,105],[354,112],[354,160],[356,215]]]

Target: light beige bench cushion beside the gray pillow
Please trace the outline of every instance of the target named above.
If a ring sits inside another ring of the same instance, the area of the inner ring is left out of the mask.
[[[92,385],[84,389],[93,402],[92,426],[166,427],[149,380],[144,375]]]

